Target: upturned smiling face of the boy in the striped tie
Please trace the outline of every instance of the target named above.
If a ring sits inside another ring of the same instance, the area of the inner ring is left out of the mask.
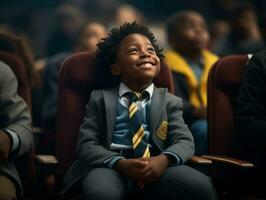
[[[131,89],[141,90],[159,74],[160,59],[147,37],[130,34],[120,42],[111,71]]]

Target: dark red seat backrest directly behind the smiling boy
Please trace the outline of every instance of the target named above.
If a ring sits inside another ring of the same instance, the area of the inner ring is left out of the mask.
[[[161,64],[160,74],[154,83],[168,88],[173,93],[172,74],[165,63]],[[56,128],[57,183],[75,160],[75,146],[79,127],[85,115],[85,105],[91,91],[96,88],[94,54],[83,52],[69,56],[61,66],[59,75]]]

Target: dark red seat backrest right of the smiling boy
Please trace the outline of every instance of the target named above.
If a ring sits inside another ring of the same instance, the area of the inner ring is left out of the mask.
[[[209,154],[232,155],[236,152],[234,110],[247,55],[219,59],[208,77]]]

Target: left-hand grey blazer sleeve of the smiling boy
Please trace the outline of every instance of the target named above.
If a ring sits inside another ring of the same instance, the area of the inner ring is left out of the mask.
[[[92,91],[79,132],[76,152],[87,168],[104,167],[104,161],[119,155],[107,149],[106,117],[101,96],[100,91]]]

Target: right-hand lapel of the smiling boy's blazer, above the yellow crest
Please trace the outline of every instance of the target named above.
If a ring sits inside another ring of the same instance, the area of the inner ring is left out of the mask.
[[[156,126],[158,124],[158,120],[161,117],[162,110],[164,108],[164,90],[159,90],[154,87],[152,102],[150,108],[150,131],[151,134],[155,133]]]

